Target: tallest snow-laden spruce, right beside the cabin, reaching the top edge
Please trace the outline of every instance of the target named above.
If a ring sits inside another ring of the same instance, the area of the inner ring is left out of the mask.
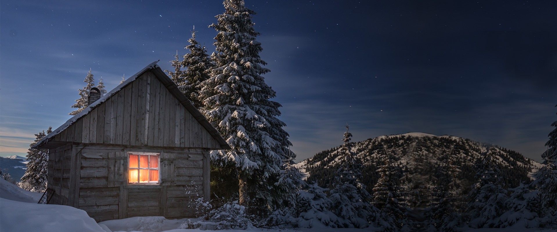
[[[261,194],[275,187],[269,180],[277,179],[291,143],[282,129],[286,125],[277,119],[281,105],[270,100],[275,91],[261,76],[269,70],[262,67],[266,63],[259,56],[261,43],[255,40],[259,34],[251,20],[255,12],[242,0],[223,4],[225,12],[216,16],[217,24],[209,26],[218,31],[216,52],[211,55],[216,68],[211,78],[201,82],[199,99],[204,105],[201,112],[232,149],[213,151],[211,158],[213,165],[235,167],[239,204],[259,199],[254,205],[267,205]]]

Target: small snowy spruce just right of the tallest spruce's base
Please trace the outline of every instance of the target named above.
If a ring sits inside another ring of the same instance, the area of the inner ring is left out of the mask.
[[[270,225],[289,224],[294,225],[297,223],[297,216],[299,214],[299,206],[297,204],[297,194],[304,189],[307,184],[302,180],[302,174],[297,167],[294,166],[296,154],[289,151],[286,159],[283,160],[283,170],[280,171],[280,177],[275,182],[277,189],[284,192],[282,196],[284,199],[276,204],[276,210],[270,217]]]

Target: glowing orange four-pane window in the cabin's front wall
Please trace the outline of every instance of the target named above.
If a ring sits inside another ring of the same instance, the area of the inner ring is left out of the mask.
[[[130,184],[159,184],[158,153],[128,152],[128,171]]]

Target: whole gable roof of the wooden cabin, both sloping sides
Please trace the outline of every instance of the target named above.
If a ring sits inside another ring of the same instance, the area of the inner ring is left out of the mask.
[[[185,97],[183,93],[178,89],[178,86],[176,86],[176,84],[172,80],[170,80],[170,78],[160,69],[160,67],[157,65],[157,62],[158,61],[150,63],[148,66],[144,67],[141,71],[135,73],[135,75],[129,77],[127,80],[125,80],[123,83],[118,85],[116,88],[106,93],[106,95],[102,96],[101,98],[99,98],[99,100],[91,103],[91,105],[84,108],[84,110],[82,110],[80,113],[78,113],[71,119],[67,120],[65,124],[62,124],[56,130],[53,130],[50,134],[45,136],[42,140],[38,141],[34,146],[32,146],[32,148],[45,149],[45,148],[53,148],[53,147],[58,147],[67,144],[68,141],[52,141],[52,140],[56,135],[66,130],[72,124],[74,124],[82,117],[86,116],[88,113],[94,110],[97,106],[101,105],[101,103],[109,100],[111,97],[115,96],[116,93],[118,93],[124,87],[130,85],[132,82],[136,80],[136,78],[143,75],[143,73],[150,71],[154,74],[154,77],[156,77],[164,85],[164,87],[167,88],[167,90],[178,100],[178,102],[185,107],[185,109],[194,117],[194,119],[197,120],[197,122],[199,122],[199,124],[201,124],[201,126],[205,130],[207,130],[207,132],[213,137],[214,140],[218,142],[218,144],[222,147],[222,149],[231,149],[231,147],[227,144],[226,141],[224,141],[222,136],[211,125],[211,123],[207,121],[207,119],[202,115],[202,113],[199,112],[199,110],[197,110],[197,108],[193,106],[192,102],[189,101],[189,99]]]

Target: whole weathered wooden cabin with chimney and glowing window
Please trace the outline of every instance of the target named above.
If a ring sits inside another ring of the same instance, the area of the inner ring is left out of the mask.
[[[194,216],[190,200],[209,198],[209,151],[230,149],[226,141],[157,62],[105,96],[95,91],[35,145],[50,150],[49,204],[96,221]]]

